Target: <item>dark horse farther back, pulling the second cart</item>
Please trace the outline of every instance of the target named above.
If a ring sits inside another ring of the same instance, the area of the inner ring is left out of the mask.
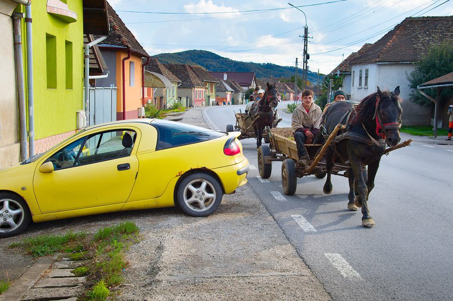
[[[256,147],[261,146],[261,139],[263,138],[263,130],[265,127],[272,128],[274,125],[274,111],[278,105],[278,91],[275,88],[275,82],[273,84],[267,83],[266,91],[264,92],[263,98],[255,103],[250,108],[251,116],[255,119],[260,116],[255,122],[255,135],[256,135]]]

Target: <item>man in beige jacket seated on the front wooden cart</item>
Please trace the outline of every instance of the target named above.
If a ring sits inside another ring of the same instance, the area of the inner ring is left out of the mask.
[[[294,141],[297,146],[297,166],[306,167],[310,165],[310,157],[305,148],[305,144],[313,143],[315,137],[320,133],[321,108],[313,103],[314,92],[304,90],[302,92],[302,102],[292,113],[291,127],[294,130]]]

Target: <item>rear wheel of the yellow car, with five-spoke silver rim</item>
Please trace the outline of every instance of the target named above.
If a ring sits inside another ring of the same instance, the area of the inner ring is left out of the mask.
[[[196,172],[186,176],[179,183],[176,200],[179,208],[186,214],[206,217],[217,210],[222,196],[222,187],[213,176]],[[200,197],[204,197],[201,203]]]

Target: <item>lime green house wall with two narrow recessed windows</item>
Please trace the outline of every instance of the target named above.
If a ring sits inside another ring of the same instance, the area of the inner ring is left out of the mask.
[[[67,5],[77,14],[73,23],[47,13],[46,0],[32,4],[35,140],[74,131],[75,112],[83,110],[83,2]],[[22,29],[25,52],[24,22]]]

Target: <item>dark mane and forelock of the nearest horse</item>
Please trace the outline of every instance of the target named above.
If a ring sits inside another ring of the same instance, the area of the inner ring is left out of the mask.
[[[355,115],[351,121],[352,125],[372,120],[374,117],[376,97],[379,93],[374,92],[363,98],[360,103],[355,107]],[[390,91],[383,91],[380,95],[380,101],[392,101],[397,106],[400,113],[403,111],[400,106],[401,98]]]

